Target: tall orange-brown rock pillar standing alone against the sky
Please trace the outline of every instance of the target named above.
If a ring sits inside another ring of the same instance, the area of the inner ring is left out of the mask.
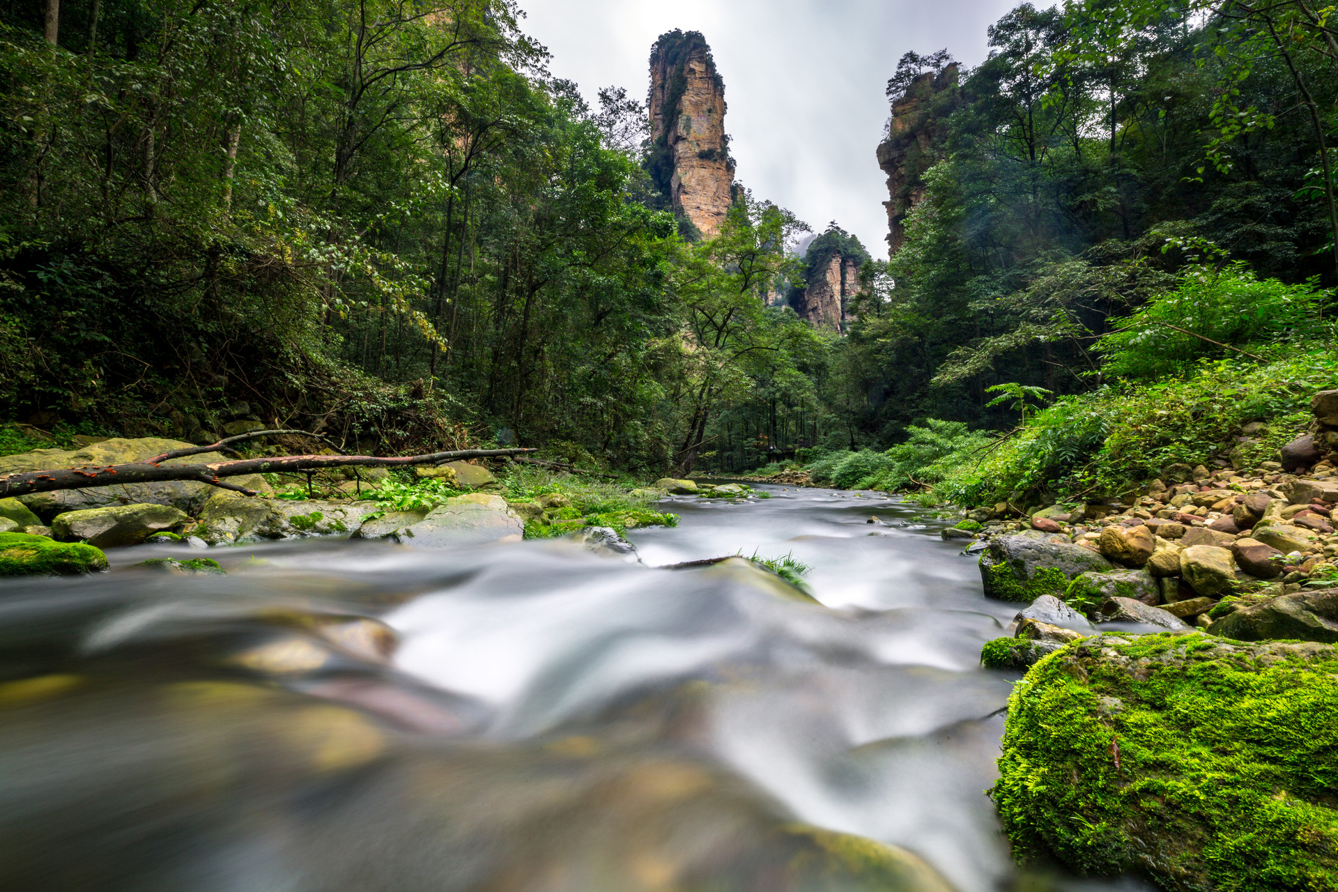
[[[650,175],[673,211],[712,238],[735,179],[725,136],[725,86],[696,31],[662,35],[650,53]]]

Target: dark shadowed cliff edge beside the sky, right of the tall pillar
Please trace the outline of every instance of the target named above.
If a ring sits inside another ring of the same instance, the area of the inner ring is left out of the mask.
[[[958,103],[957,63],[915,78],[892,100],[892,123],[878,146],[878,166],[887,174],[887,254],[906,238],[906,215],[925,198],[925,171],[939,160],[947,115]]]

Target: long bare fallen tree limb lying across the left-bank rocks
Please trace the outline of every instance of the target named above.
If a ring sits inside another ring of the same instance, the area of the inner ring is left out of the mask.
[[[201,448],[205,449],[203,447]],[[209,447],[209,449],[213,449],[213,447]],[[158,464],[157,461],[104,465],[86,464],[78,468],[21,471],[19,473],[3,475],[0,476],[0,499],[24,496],[33,492],[51,492],[54,489],[87,489],[90,487],[110,487],[122,483],[163,483],[167,480],[207,483],[211,487],[233,489],[234,492],[254,496],[257,495],[254,489],[248,489],[233,483],[223,483],[221,477],[240,477],[248,473],[294,473],[347,467],[404,468],[416,464],[440,464],[442,461],[456,461],[460,459],[499,459],[524,452],[534,452],[534,449],[456,449],[454,452],[428,452],[427,455],[408,455],[393,459],[371,455],[288,455],[269,459],[210,461],[206,464]],[[165,455],[170,456],[171,453]],[[159,459],[161,456],[154,457]]]

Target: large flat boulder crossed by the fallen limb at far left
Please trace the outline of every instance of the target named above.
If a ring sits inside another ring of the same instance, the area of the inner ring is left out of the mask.
[[[142,437],[127,440],[114,437],[94,443],[80,449],[33,449],[19,455],[0,456],[0,475],[17,471],[45,471],[50,468],[72,468],[84,464],[124,464],[142,461],[143,459],[162,455],[173,449],[193,447],[191,443],[181,440],[165,440],[162,437]],[[210,461],[227,461],[218,452],[205,452],[186,456],[185,459],[169,459],[163,464],[202,464]],[[229,483],[240,487],[256,489],[257,492],[270,492],[269,484],[260,475],[252,473],[241,477],[229,477]],[[169,504],[189,515],[197,515],[205,501],[215,492],[225,492],[207,483],[194,483],[187,480],[170,480],[166,483],[130,483],[112,487],[91,487],[88,489],[58,489],[56,492],[35,492],[19,496],[19,500],[41,518],[51,519],[66,511],[82,511],[86,508],[102,508],[114,504]]]

